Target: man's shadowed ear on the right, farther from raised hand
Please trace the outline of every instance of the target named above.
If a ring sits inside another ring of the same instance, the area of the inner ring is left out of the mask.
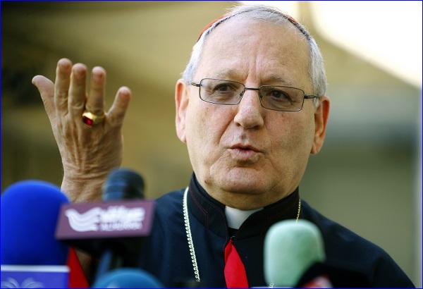
[[[314,140],[311,154],[317,154],[323,146],[326,136],[326,125],[329,118],[330,100],[329,97],[321,97],[319,106],[314,111]]]

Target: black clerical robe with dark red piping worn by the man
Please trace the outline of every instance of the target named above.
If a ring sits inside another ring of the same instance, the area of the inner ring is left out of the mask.
[[[183,219],[183,190],[157,199],[152,234],[143,247],[140,266],[168,287],[189,286],[195,275]],[[234,235],[228,229],[225,206],[210,197],[192,176],[188,214],[202,287],[226,287],[223,252],[232,238],[250,287],[265,286],[263,247],[271,225],[295,219],[298,189],[288,197],[255,212]],[[322,216],[301,201],[300,219],[314,223],[324,238],[326,264],[334,287],[414,287],[410,279],[372,242]]]

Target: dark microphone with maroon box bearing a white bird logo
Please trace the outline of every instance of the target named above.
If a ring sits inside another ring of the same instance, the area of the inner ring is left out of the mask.
[[[99,259],[94,280],[120,267],[139,267],[142,237],[149,235],[154,202],[143,201],[142,177],[125,168],[111,171],[104,202],[66,204],[56,236]]]

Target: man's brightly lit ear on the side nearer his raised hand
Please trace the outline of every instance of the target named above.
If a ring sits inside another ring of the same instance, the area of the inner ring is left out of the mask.
[[[180,79],[175,86],[175,106],[176,106],[176,135],[181,142],[186,143],[185,137],[185,115],[188,108],[188,87],[185,82]]]

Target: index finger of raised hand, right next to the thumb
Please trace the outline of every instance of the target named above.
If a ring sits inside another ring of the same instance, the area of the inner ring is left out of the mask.
[[[68,90],[71,76],[72,62],[60,59],[56,67],[56,81],[54,82],[54,104],[61,115],[68,113]]]

